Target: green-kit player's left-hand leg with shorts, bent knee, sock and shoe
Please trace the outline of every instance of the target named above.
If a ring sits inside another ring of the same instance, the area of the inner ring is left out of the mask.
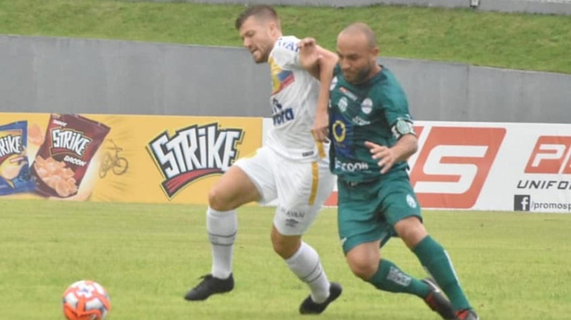
[[[414,294],[443,318],[453,319],[449,302],[429,280],[412,277],[392,261],[381,259],[379,247],[394,235],[391,225],[380,214],[387,210],[381,194],[384,183],[352,186],[340,182],[338,186],[339,235],[352,272],[377,289]]]

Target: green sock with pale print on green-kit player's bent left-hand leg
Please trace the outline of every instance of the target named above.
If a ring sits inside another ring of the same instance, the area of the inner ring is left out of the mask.
[[[428,296],[430,292],[427,284],[409,276],[391,261],[385,259],[379,261],[379,269],[369,282],[380,290],[410,293],[421,298]]]

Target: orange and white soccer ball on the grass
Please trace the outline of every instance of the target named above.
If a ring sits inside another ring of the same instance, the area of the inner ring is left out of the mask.
[[[106,290],[95,281],[82,280],[63,293],[63,314],[68,320],[103,320],[111,309]]]

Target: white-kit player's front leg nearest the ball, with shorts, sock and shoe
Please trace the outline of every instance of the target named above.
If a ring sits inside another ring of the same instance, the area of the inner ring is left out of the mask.
[[[235,209],[248,202],[272,198],[272,193],[275,194],[266,155],[267,151],[260,149],[255,157],[240,159],[211,188],[206,228],[212,245],[212,270],[186,294],[187,300],[205,300],[211,294],[234,288],[232,258],[238,231]]]

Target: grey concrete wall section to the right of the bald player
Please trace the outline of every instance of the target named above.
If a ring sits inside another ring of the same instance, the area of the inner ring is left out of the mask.
[[[419,120],[571,123],[571,75],[381,58]]]

